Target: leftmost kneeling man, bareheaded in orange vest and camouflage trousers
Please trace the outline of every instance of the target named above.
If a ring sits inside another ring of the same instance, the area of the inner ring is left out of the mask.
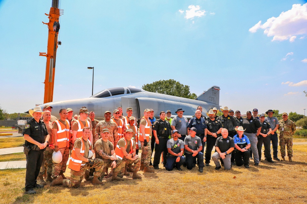
[[[70,179],[63,179],[58,176],[52,181],[51,186],[56,184],[63,184],[70,188],[78,188],[81,185],[85,170],[95,169],[93,184],[103,184],[99,181],[101,172],[103,171],[103,160],[95,159],[93,145],[88,137],[91,130],[89,127],[84,127],[82,130],[82,137],[77,138],[72,149],[72,154],[69,160],[68,168],[71,169]],[[92,155],[92,156],[91,156]]]

